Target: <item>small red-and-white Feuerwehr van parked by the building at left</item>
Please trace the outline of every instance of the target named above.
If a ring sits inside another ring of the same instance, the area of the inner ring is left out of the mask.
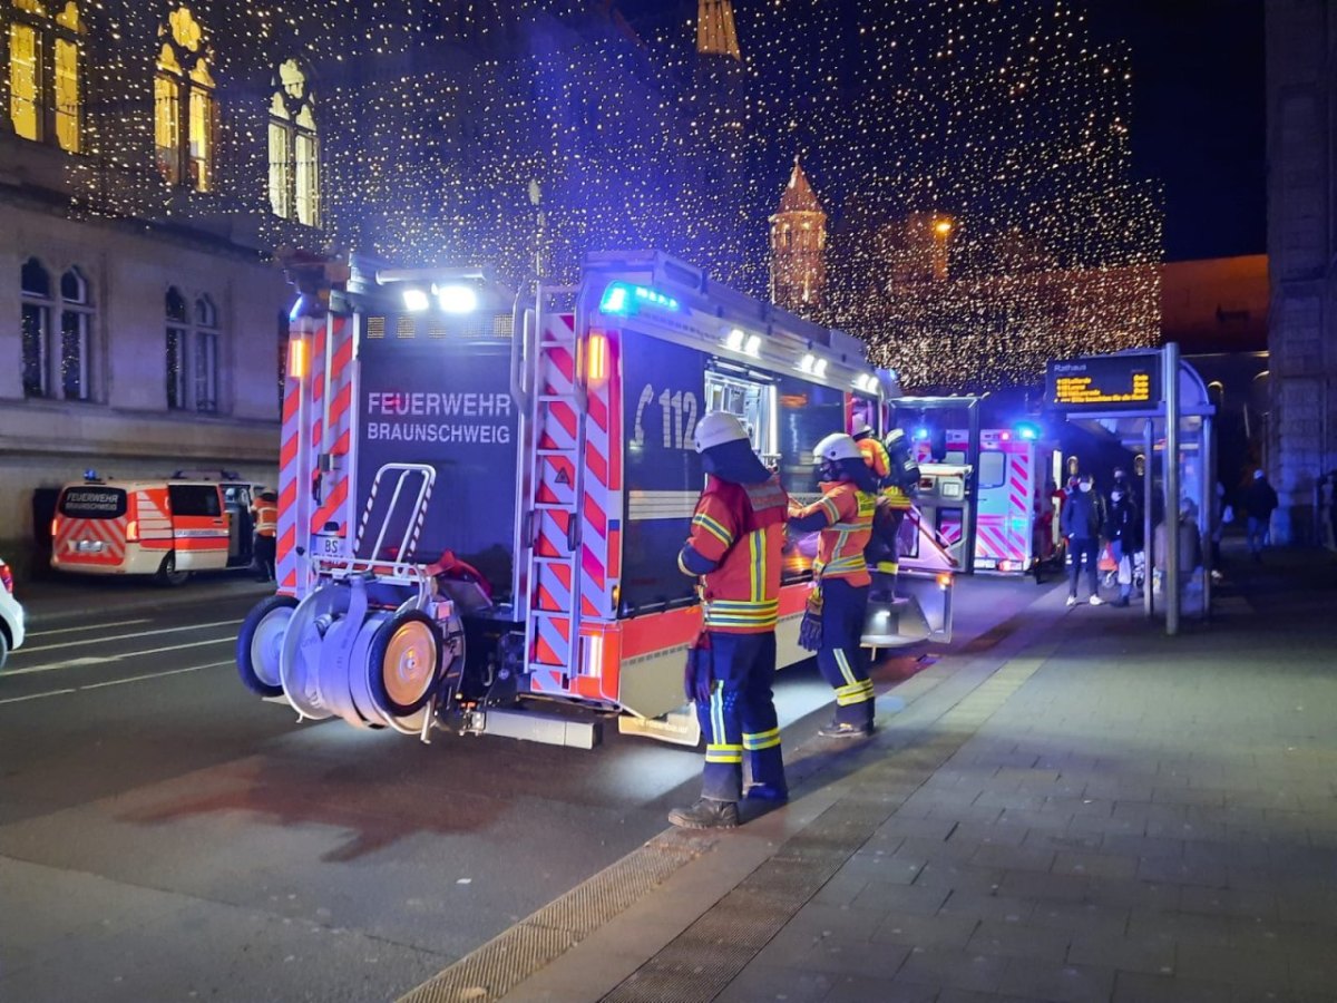
[[[51,520],[51,567],[84,575],[154,575],[178,586],[194,571],[249,562],[230,539],[218,483],[102,480],[67,484]]]

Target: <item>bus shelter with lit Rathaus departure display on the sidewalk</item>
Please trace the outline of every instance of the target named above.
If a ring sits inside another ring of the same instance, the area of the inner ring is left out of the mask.
[[[1046,403],[1067,421],[1146,457],[1144,614],[1163,611],[1166,634],[1179,631],[1182,615],[1209,617],[1211,538],[1221,518],[1214,408],[1202,377],[1179,358],[1179,346],[1050,362]]]

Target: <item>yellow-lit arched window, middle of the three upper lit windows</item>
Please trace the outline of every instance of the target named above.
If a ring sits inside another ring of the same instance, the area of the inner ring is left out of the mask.
[[[154,75],[154,146],[158,173],[168,185],[195,191],[214,186],[214,78],[211,51],[194,15],[178,7],[158,28]]]

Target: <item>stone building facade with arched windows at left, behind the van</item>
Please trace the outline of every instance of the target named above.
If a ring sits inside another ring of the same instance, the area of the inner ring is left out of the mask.
[[[263,102],[289,53],[233,76],[218,37],[193,4],[0,3],[0,555],[20,574],[43,562],[35,499],[86,469],[274,481],[291,297],[265,257],[320,241],[289,209],[317,181],[266,187],[295,119],[235,131],[238,87],[283,123]]]

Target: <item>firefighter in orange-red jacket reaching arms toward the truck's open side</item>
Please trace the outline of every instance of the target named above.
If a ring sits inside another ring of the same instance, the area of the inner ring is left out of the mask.
[[[821,638],[809,643],[816,643],[817,665],[836,690],[836,717],[818,734],[860,738],[873,733],[873,681],[860,638],[872,580],[864,548],[877,507],[877,477],[853,436],[829,435],[814,453],[822,497],[806,508],[792,508],[789,528],[821,531],[813,562]],[[810,600],[809,608],[814,606]]]

